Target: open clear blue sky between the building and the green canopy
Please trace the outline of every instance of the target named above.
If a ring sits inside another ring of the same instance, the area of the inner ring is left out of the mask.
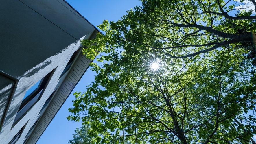
[[[141,5],[139,0],[66,1],[94,26],[100,25],[103,20],[117,21],[126,14],[127,10],[133,9],[136,5]],[[82,122],[67,121],[66,117],[70,114],[67,109],[73,107],[73,93],[75,91],[86,91],[85,86],[91,84],[94,80],[94,75],[96,73],[90,69],[86,71],[36,144],[65,144],[72,139],[75,128],[80,128]]]

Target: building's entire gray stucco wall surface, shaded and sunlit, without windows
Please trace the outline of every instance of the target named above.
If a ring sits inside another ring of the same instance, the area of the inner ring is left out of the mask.
[[[67,74],[59,77],[82,47],[79,40],[97,32],[63,0],[0,1],[0,71],[14,78],[0,75],[0,143],[21,128],[17,143],[23,143],[46,99],[65,80]],[[53,70],[40,98],[14,122],[26,91]]]

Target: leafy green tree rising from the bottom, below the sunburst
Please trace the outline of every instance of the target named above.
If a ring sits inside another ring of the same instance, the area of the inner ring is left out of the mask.
[[[89,123],[90,136],[101,143],[113,141],[111,135],[133,143],[249,143],[256,130],[249,112],[255,111],[255,67],[243,57],[214,52],[209,57],[217,60],[181,71],[178,60],[152,71],[142,55],[132,66],[127,64],[135,58],[94,67],[95,82],[75,93],[69,119]]]

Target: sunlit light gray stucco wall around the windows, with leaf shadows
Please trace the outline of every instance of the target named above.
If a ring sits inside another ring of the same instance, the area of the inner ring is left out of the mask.
[[[17,143],[23,143],[28,130],[38,118],[40,109],[43,107],[46,99],[54,91],[57,84],[62,83],[61,81],[63,80],[59,80],[59,77],[67,65],[67,62],[71,58],[72,54],[81,46],[82,45],[80,45],[80,42],[73,43],[62,53],[51,56],[27,71],[22,77],[19,77],[19,83],[17,85],[15,94],[13,98],[10,99],[10,107],[8,107],[7,110],[1,110],[3,112],[7,112],[7,115],[0,134],[0,143],[9,143],[17,132],[25,125],[21,138],[17,141]],[[46,63],[49,64],[45,65]],[[16,118],[19,106],[21,105],[26,91],[52,70],[54,70],[54,73],[52,74],[47,86],[44,88],[40,99],[33,106],[31,106],[30,109],[27,110],[16,123],[14,123],[14,119]],[[7,95],[4,95],[3,97],[8,99]]]

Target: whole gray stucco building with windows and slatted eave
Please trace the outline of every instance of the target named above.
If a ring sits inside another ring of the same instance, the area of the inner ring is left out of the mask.
[[[0,1],[0,143],[33,144],[91,60],[99,31],[65,0]]]

